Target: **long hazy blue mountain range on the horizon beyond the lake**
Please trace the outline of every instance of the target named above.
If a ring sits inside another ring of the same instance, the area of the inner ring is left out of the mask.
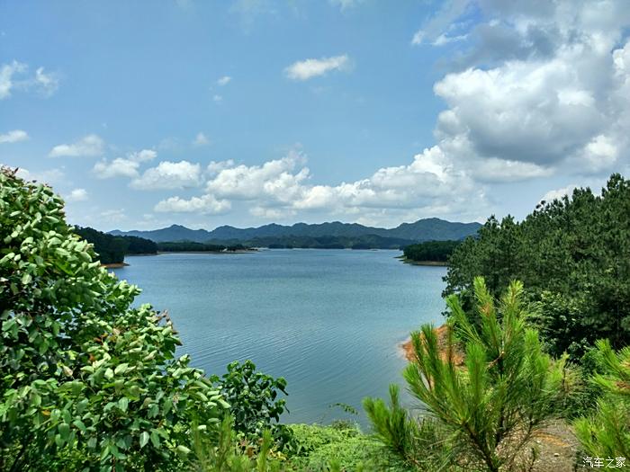
[[[473,236],[482,225],[479,223],[455,223],[440,218],[419,219],[415,223],[402,223],[398,227],[391,229],[383,227],[365,227],[358,223],[321,223],[309,225],[306,223],[296,223],[293,226],[265,225],[262,227],[217,227],[212,231],[205,229],[190,229],[181,225],[172,225],[162,229],[151,231],[120,231],[114,230],[110,233],[115,236],[139,236],[145,237],[156,243],[166,241],[193,241],[197,243],[222,243],[222,242],[246,242],[252,240],[287,237],[313,237],[320,238],[326,236],[356,238],[359,236],[381,236],[382,238],[392,238],[411,242],[422,241],[446,241],[464,239],[466,236]],[[273,244],[273,243],[270,243]]]

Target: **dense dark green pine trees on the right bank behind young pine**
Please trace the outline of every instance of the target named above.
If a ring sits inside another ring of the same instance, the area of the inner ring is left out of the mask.
[[[539,301],[538,326],[549,352],[573,360],[597,339],[630,343],[630,181],[613,174],[601,195],[576,189],[572,197],[542,202],[517,223],[492,217],[477,239],[459,245],[449,260],[445,295],[463,295],[473,307],[473,278],[491,294],[511,280]],[[478,322],[478,320],[474,320]]]

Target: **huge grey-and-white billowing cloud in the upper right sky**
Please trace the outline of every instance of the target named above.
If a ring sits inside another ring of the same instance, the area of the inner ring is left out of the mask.
[[[458,58],[465,67],[434,85],[447,105],[437,119],[437,147],[456,167],[495,183],[605,174],[623,164],[630,129],[625,2],[481,0],[482,22],[474,26],[465,20],[470,4],[445,4],[414,40],[473,41]]]

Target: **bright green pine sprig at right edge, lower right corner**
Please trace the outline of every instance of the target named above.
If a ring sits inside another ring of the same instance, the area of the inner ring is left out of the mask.
[[[593,383],[603,396],[597,411],[575,422],[575,431],[584,450],[593,457],[630,457],[630,347],[614,352],[608,341],[597,343],[606,373]]]

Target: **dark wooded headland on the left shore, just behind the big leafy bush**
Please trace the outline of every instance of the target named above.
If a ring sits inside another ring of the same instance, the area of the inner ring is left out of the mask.
[[[92,227],[74,227],[76,235],[94,245],[101,263],[122,263],[127,254],[157,254],[157,245],[138,236],[112,236]]]

